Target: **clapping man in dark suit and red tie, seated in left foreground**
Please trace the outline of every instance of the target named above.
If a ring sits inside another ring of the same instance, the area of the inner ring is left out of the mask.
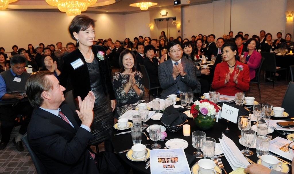
[[[62,104],[64,90],[50,71],[30,76],[26,84],[26,93],[35,108],[27,137],[47,173],[127,173],[116,155],[109,152],[97,155],[87,145],[93,138],[90,133],[93,92],[89,91],[83,101],[78,96],[80,111],[75,113]]]

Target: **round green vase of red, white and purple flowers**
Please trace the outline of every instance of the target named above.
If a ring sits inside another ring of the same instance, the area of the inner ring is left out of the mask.
[[[200,129],[210,129],[216,123],[215,114],[218,112],[218,106],[208,100],[195,101],[191,106],[190,113],[194,117],[194,122]]]

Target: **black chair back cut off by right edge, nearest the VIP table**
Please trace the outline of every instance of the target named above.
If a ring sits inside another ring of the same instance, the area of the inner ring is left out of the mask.
[[[294,82],[290,81],[288,88],[286,90],[286,93],[284,95],[284,99],[282,102],[282,108],[285,109],[285,112],[287,112],[290,116],[294,115],[293,110],[293,103],[294,103]]]

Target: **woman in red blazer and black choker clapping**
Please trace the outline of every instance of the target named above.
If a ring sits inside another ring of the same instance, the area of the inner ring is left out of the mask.
[[[235,96],[235,93],[249,89],[249,68],[236,60],[237,50],[233,42],[222,47],[224,62],[216,65],[211,86],[220,94]]]

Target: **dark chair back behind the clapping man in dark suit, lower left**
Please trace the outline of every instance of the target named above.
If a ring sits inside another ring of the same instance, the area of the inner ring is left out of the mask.
[[[47,173],[46,172],[46,168],[43,165],[43,163],[40,161],[40,159],[37,157],[36,153],[31,149],[30,145],[29,145],[29,140],[28,137],[26,135],[26,133],[21,137],[22,141],[24,142],[24,145],[26,145],[26,149],[28,149],[31,158],[34,162],[34,165],[36,167],[37,173],[38,174],[44,174]]]

